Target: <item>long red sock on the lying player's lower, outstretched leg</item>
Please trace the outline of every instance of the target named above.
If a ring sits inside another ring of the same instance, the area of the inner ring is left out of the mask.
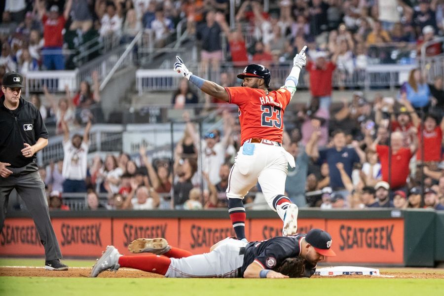
[[[121,256],[119,258],[119,264],[120,267],[130,267],[165,275],[171,264],[171,260],[165,256],[158,255]]]

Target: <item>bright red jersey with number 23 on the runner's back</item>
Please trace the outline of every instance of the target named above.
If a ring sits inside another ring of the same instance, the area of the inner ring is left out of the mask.
[[[265,94],[263,89],[251,87],[225,87],[229,103],[239,107],[241,143],[251,138],[282,143],[284,110],[291,93],[278,89]]]

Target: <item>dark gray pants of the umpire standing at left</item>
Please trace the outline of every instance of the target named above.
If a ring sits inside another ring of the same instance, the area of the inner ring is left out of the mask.
[[[21,172],[18,175],[10,175],[7,178],[0,177],[0,232],[3,229],[4,219],[6,218],[9,194],[14,188],[25,202],[36,224],[40,242],[45,248],[46,260],[62,258],[59,242],[49,218],[45,185],[37,171]]]

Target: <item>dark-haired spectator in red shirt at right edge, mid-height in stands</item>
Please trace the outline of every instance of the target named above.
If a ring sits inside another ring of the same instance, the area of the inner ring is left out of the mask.
[[[425,116],[424,124],[421,124],[418,130],[420,145],[416,153],[417,160],[422,160],[423,162],[440,162],[442,160],[443,131],[444,118],[441,121],[441,125],[438,125],[438,120],[433,115],[427,114]],[[422,155],[422,148],[424,148],[424,155]]]

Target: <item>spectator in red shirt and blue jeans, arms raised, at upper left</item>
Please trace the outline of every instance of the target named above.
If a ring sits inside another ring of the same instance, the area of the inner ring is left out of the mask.
[[[52,5],[49,13],[44,3],[36,0],[38,16],[43,22],[43,38],[45,40],[42,50],[43,65],[46,70],[64,70],[65,61],[62,54],[63,34],[66,20],[71,10],[70,5],[65,7],[63,15],[59,14],[59,7]]]

